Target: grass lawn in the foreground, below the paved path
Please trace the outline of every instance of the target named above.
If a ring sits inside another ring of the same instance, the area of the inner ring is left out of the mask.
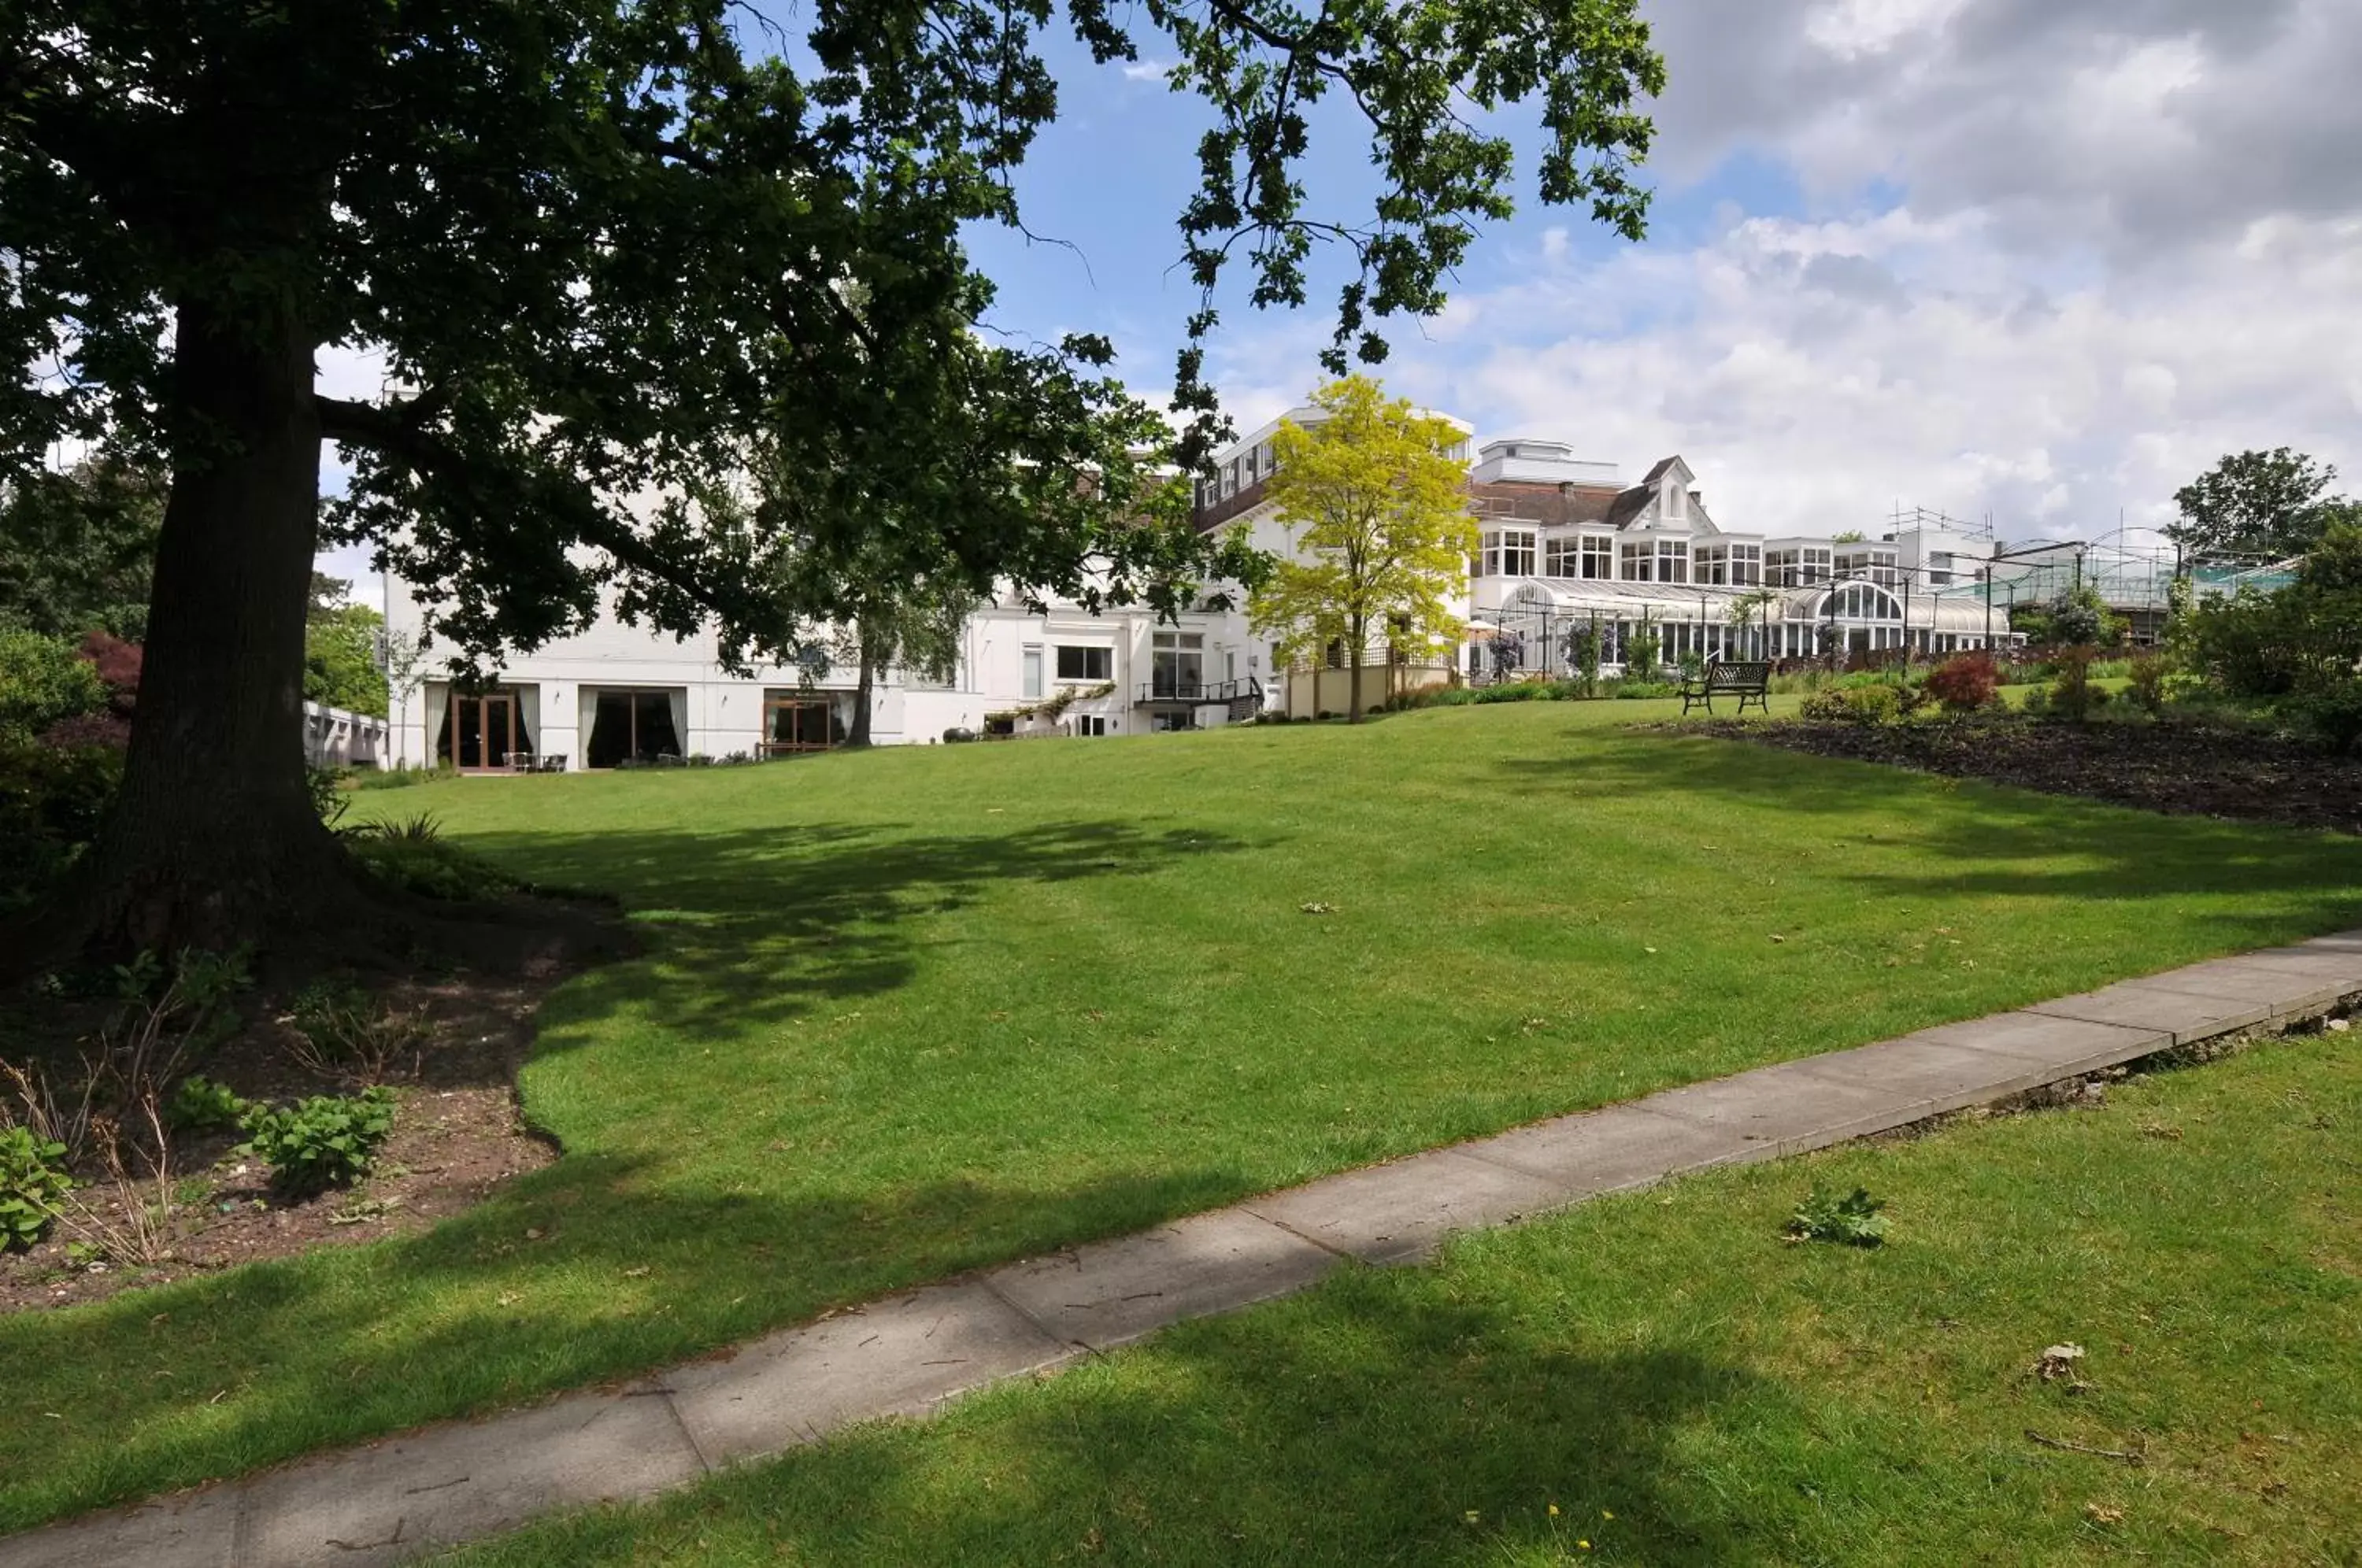
[[[456,1561],[2353,1563],[2350,1039],[1464,1237]],[[1781,1244],[1812,1183],[1892,1244]]]

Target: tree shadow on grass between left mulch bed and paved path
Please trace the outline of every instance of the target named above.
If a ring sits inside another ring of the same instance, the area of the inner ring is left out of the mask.
[[[430,1230],[0,1318],[0,1533],[640,1374],[1209,1207],[1238,1171],[765,1197],[579,1155]]]

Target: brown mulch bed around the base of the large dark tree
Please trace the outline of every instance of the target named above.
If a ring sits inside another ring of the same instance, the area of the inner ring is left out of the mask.
[[[31,1252],[0,1252],[0,1313],[73,1306],[257,1259],[423,1230],[517,1174],[550,1164],[557,1150],[527,1131],[515,1079],[541,999],[579,968],[576,959],[543,959],[524,973],[380,978],[371,987],[380,1008],[413,1015],[420,1027],[402,1060],[378,1074],[397,1093],[394,1129],[361,1183],[286,1202],[269,1190],[257,1159],[231,1152],[236,1133],[180,1133],[172,1138],[180,1202],[168,1254],[151,1263],[76,1266],[66,1252],[73,1237],[52,1226]],[[291,1060],[288,1025],[272,999],[250,997],[239,1011],[239,1034],[191,1063],[205,1077],[257,1100],[354,1089],[350,1077],[307,1072]],[[47,1039],[33,1056],[45,1056],[52,1072],[64,1070],[109,1013],[104,1004],[54,1004],[38,1020]],[[14,1048],[26,1048],[24,1034]],[[76,1174],[90,1183],[85,1197],[120,1211],[102,1171]]]

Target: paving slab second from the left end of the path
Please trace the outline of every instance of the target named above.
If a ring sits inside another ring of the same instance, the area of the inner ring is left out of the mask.
[[[376,1568],[704,1474],[661,1393],[574,1393],[262,1476],[239,1521],[236,1568]]]

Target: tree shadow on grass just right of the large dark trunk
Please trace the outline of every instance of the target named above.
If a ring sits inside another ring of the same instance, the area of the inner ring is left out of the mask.
[[[1006,883],[1148,876],[1254,845],[1209,829],[1058,822],[1006,834],[902,824],[744,831],[477,834],[470,848],[536,881],[616,893],[657,933],[642,961],[576,989],[590,1011],[647,1004],[685,1037],[737,1034],[909,982],[945,916]],[[546,1044],[562,1046],[562,1039]]]

